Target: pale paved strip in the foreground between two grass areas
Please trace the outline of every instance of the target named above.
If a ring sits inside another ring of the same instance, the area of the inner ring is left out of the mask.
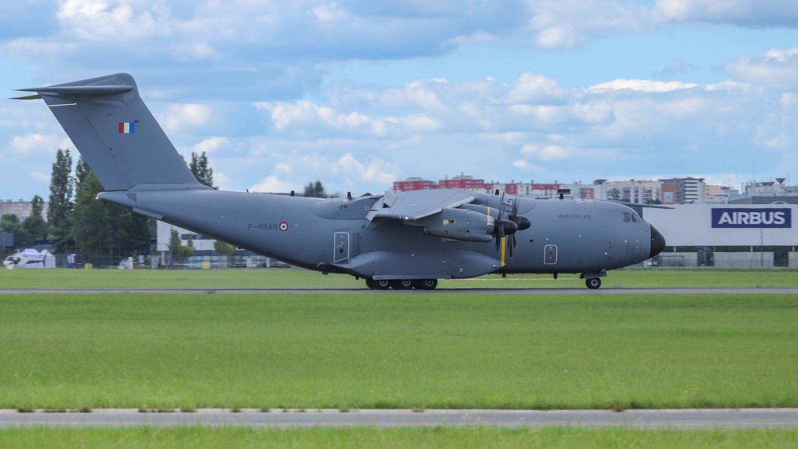
[[[798,409],[705,410],[358,410],[282,411],[200,409],[196,412],[152,413],[133,409],[95,410],[92,413],[20,413],[0,411],[0,427],[132,427],[132,426],[243,426],[243,427],[637,427],[637,428],[745,428],[798,427]]]

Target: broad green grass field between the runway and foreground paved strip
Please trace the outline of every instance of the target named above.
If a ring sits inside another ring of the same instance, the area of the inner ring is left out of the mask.
[[[2,295],[0,407],[798,407],[798,295]]]

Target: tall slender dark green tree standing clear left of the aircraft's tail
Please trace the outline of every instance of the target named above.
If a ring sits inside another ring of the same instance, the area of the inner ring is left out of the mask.
[[[73,244],[70,216],[74,206],[72,202],[74,181],[71,174],[72,156],[69,154],[69,149],[61,150],[59,148],[50,177],[49,209],[47,211],[49,233],[57,252],[63,252],[66,247]]]

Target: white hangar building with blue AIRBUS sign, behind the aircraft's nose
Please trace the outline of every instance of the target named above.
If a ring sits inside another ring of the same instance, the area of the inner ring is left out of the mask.
[[[798,267],[798,205],[674,205],[642,209],[666,240],[661,265]]]

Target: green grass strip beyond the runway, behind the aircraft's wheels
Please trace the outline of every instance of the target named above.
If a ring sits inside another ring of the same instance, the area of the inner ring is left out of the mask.
[[[603,287],[798,287],[798,271],[789,269],[614,270]],[[301,268],[223,270],[77,270],[0,269],[2,288],[365,288],[363,280],[327,276]],[[585,288],[577,275],[498,275],[441,280],[438,288]]]

